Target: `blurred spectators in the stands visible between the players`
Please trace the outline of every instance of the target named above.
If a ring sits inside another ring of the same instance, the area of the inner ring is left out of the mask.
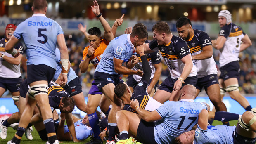
[[[1,35],[0,38],[4,38],[4,35]],[[94,66],[89,65],[88,71],[81,73],[79,70],[79,64],[83,58],[83,50],[86,46],[89,45],[88,40],[85,39],[85,36],[80,34],[65,35],[66,45],[69,50],[69,61],[71,62],[71,67],[76,72],[77,76],[81,80],[82,90],[85,97],[88,96],[88,92],[91,87],[91,83],[94,76]],[[252,40],[253,45],[247,50],[240,52],[240,77],[239,77],[239,90],[241,94],[254,94],[256,93],[256,40]],[[216,61],[216,67],[219,71],[219,62],[218,62],[218,50],[213,49],[213,57]],[[21,73],[22,78],[26,79],[26,57],[23,57],[21,61]],[[168,67],[162,61],[162,73],[159,80],[159,84],[170,74]],[[220,74],[220,71],[219,73]],[[123,80],[126,81],[127,75],[123,76]],[[203,91],[205,93],[205,91]],[[6,95],[6,94],[5,94]]]

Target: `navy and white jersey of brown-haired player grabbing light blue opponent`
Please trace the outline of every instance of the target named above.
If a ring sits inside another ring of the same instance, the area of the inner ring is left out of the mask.
[[[171,41],[167,45],[157,45],[156,40],[149,42],[149,48],[151,50],[153,50],[156,47],[159,48],[164,58],[164,61],[166,62],[166,65],[170,70],[171,77],[173,79],[179,78],[184,67],[183,62],[180,59],[190,54],[190,50],[187,46],[187,43],[180,37],[173,35]],[[192,77],[196,75],[197,68],[193,65],[193,68],[188,76]]]

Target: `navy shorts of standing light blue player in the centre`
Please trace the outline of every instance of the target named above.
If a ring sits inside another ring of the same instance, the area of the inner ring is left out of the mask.
[[[102,72],[98,72],[96,71],[94,73],[94,81],[98,87],[98,89],[100,90],[100,92],[102,92],[102,87],[104,87],[105,85],[109,84],[109,83],[113,83],[114,85],[117,85],[119,83],[123,83],[124,81],[122,80],[122,78],[120,77],[120,75],[116,75],[116,74],[109,74],[109,73],[102,73]]]

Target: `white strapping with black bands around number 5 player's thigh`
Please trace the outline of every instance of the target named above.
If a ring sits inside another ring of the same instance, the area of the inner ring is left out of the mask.
[[[33,85],[28,90],[29,97],[35,99],[35,96],[38,94],[47,94],[48,93],[48,85],[40,84],[40,85]]]

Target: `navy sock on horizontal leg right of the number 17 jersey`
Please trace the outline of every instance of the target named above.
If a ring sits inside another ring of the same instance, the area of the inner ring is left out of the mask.
[[[214,120],[226,122],[230,120],[238,120],[239,114],[236,113],[229,113],[226,111],[218,111],[215,112]]]

